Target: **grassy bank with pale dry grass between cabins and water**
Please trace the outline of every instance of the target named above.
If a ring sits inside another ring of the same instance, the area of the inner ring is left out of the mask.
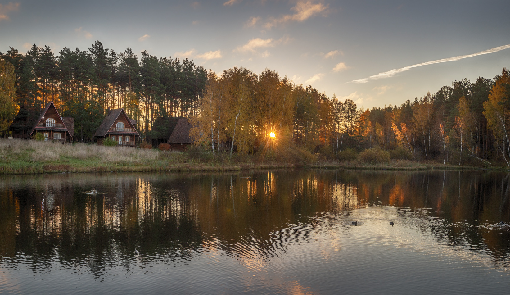
[[[144,150],[133,147],[108,147],[97,144],[61,144],[54,142],[0,139],[0,174],[38,174],[62,172],[106,171],[232,171],[268,168],[354,168],[423,170],[431,168],[466,168],[433,162],[391,160],[368,164],[359,161],[318,160],[289,163],[260,156],[234,157],[228,154],[214,157],[210,153],[185,153]],[[468,167],[471,168],[471,167]]]

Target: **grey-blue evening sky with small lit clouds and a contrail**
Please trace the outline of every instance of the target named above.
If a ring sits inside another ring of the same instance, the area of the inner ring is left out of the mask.
[[[372,108],[510,67],[509,11],[508,0],[0,0],[0,51],[99,40],[219,74],[269,68]]]

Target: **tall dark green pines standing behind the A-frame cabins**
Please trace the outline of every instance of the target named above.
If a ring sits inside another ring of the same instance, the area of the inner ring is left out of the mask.
[[[207,71],[193,60],[146,51],[139,59],[131,48],[116,53],[99,41],[88,50],[64,47],[59,55],[49,46],[34,44],[27,54],[9,47],[0,59],[14,66],[16,105],[37,108],[53,101],[83,129],[82,138],[93,135],[108,109],[123,107],[144,134],[158,117],[194,115],[207,81]]]

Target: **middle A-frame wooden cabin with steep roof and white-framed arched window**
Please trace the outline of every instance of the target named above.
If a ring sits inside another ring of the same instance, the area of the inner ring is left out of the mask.
[[[94,137],[97,144],[103,144],[103,139],[109,137],[118,141],[119,145],[135,146],[140,134],[136,131],[136,120],[130,119],[124,109],[120,108],[108,112]]]

